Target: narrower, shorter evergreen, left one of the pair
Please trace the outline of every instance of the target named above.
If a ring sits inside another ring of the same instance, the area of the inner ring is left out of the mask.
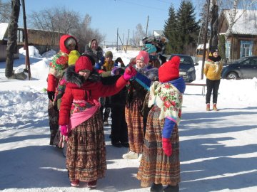
[[[173,4],[171,4],[168,9],[168,20],[165,21],[164,25],[164,35],[168,38],[168,43],[166,44],[166,53],[176,53],[176,36],[177,36],[177,19],[176,19],[176,11],[173,8]]]

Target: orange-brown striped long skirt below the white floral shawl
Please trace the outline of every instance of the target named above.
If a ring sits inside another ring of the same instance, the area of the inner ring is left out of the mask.
[[[164,119],[158,119],[160,112],[160,108],[153,107],[148,114],[143,154],[136,176],[142,187],[151,186],[151,183],[175,186],[181,180],[178,127],[173,128],[171,135],[172,155],[166,156],[162,149]]]

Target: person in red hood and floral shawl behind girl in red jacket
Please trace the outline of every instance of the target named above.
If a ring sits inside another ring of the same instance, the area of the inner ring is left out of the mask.
[[[50,145],[57,145],[60,137],[57,135],[59,130],[59,111],[57,110],[57,102],[55,93],[59,80],[64,75],[64,70],[69,65],[69,54],[71,51],[78,51],[78,43],[74,36],[64,35],[60,38],[60,51],[57,53],[49,66],[49,75],[47,78],[47,95],[49,97],[48,113],[49,113],[49,127],[50,127]],[[54,142],[56,141],[56,142]]]

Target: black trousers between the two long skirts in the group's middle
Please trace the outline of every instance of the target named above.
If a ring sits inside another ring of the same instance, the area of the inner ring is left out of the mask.
[[[125,105],[113,105],[111,107],[111,143],[127,143],[128,141]]]

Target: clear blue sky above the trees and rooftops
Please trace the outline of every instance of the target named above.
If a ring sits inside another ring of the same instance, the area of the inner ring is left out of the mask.
[[[199,12],[199,1],[193,0],[196,6],[196,17]],[[146,31],[147,17],[148,32],[153,30],[163,30],[165,21],[168,19],[168,8],[171,2],[175,9],[181,1],[168,0],[25,0],[26,15],[31,11],[41,11],[53,7],[65,7],[70,11],[78,11],[83,18],[86,14],[91,16],[91,28],[98,28],[102,34],[106,35],[106,44],[116,41],[116,31],[119,28],[119,36],[124,36],[124,41],[129,33],[132,38],[136,31],[136,26],[141,23]],[[21,9],[22,12],[22,9]],[[22,21],[22,16],[20,16]],[[22,26],[23,26],[23,22]]]

